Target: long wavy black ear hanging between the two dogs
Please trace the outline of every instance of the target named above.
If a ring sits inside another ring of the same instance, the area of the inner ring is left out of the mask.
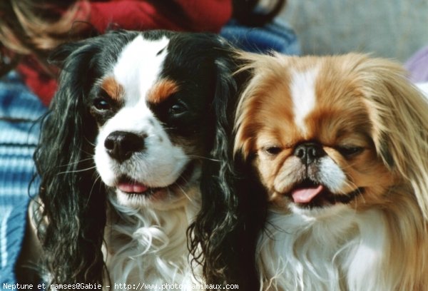
[[[233,165],[233,118],[245,74],[234,74],[238,68],[234,49],[223,39],[217,41],[219,56],[211,106],[214,138],[210,155],[203,162],[202,205],[189,228],[189,247],[194,260],[203,265],[205,282],[236,283],[244,290],[253,290],[257,280],[253,250],[244,231],[247,208],[235,193]]]

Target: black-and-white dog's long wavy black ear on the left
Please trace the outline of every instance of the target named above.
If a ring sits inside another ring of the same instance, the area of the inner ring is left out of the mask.
[[[41,126],[34,159],[41,178],[39,238],[51,283],[101,283],[105,193],[92,160],[96,122],[86,98],[96,78],[93,40],[53,54],[62,66],[59,88]],[[47,224],[46,224],[47,222]],[[46,224],[46,225],[44,225]]]

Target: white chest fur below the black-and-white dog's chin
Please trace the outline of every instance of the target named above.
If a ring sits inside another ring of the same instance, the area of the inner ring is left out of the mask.
[[[145,284],[142,290],[182,285],[194,280],[186,230],[197,203],[170,210],[129,210],[115,205],[106,226],[106,265],[113,284]],[[121,289],[121,288],[118,288]],[[191,289],[190,289],[191,290]]]

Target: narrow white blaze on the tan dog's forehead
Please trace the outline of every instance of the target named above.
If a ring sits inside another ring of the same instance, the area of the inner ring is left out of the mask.
[[[291,98],[295,124],[302,133],[307,133],[305,118],[315,108],[315,79],[318,69],[311,68],[308,71],[293,72],[291,78]]]

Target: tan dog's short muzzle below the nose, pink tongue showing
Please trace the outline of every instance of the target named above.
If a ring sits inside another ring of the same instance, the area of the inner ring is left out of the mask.
[[[275,179],[277,195],[293,213],[319,215],[332,208],[343,208],[365,192],[365,188],[350,186],[345,173],[324,151],[312,160],[292,155],[285,160]]]

